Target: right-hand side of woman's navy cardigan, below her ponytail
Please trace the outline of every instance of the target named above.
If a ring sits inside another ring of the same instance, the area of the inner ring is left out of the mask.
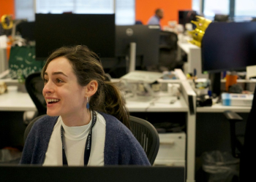
[[[108,114],[102,116],[106,120],[105,165],[150,165],[132,132],[115,117]]]

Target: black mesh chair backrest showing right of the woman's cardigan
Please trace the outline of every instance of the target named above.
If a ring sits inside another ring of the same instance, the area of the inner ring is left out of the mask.
[[[159,135],[155,127],[148,121],[135,116],[129,116],[132,134],[139,141],[151,165],[159,151]]]

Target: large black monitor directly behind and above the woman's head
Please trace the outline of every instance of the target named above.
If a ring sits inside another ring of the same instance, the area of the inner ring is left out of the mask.
[[[114,14],[36,14],[36,60],[62,46],[83,44],[100,58],[115,57]]]

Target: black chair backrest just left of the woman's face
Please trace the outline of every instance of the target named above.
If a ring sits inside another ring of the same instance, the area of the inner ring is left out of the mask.
[[[25,81],[26,90],[29,96],[37,107],[38,115],[46,114],[47,107],[45,98],[42,95],[42,89],[44,88],[44,81],[41,78],[40,72],[29,74]]]

